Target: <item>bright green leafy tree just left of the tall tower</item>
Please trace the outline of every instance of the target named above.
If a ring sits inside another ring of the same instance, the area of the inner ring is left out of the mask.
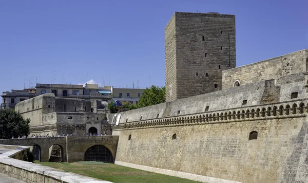
[[[143,95],[141,95],[137,107],[146,107],[165,102],[165,91],[165,86],[158,87],[152,85],[150,88],[146,88],[143,90]]]

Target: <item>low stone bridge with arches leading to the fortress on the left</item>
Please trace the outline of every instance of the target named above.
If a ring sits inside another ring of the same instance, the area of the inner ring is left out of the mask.
[[[37,149],[37,159],[49,161],[52,146],[61,148],[62,162],[108,159],[114,162],[119,136],[69,136],[2,139],[0,144],[24,145]]]

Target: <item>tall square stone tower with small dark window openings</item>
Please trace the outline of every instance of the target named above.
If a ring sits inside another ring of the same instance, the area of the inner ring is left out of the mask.
[[[235,15],[172,15],[165,28],[166,102],[221,89],[222,70],[235,66]]]

